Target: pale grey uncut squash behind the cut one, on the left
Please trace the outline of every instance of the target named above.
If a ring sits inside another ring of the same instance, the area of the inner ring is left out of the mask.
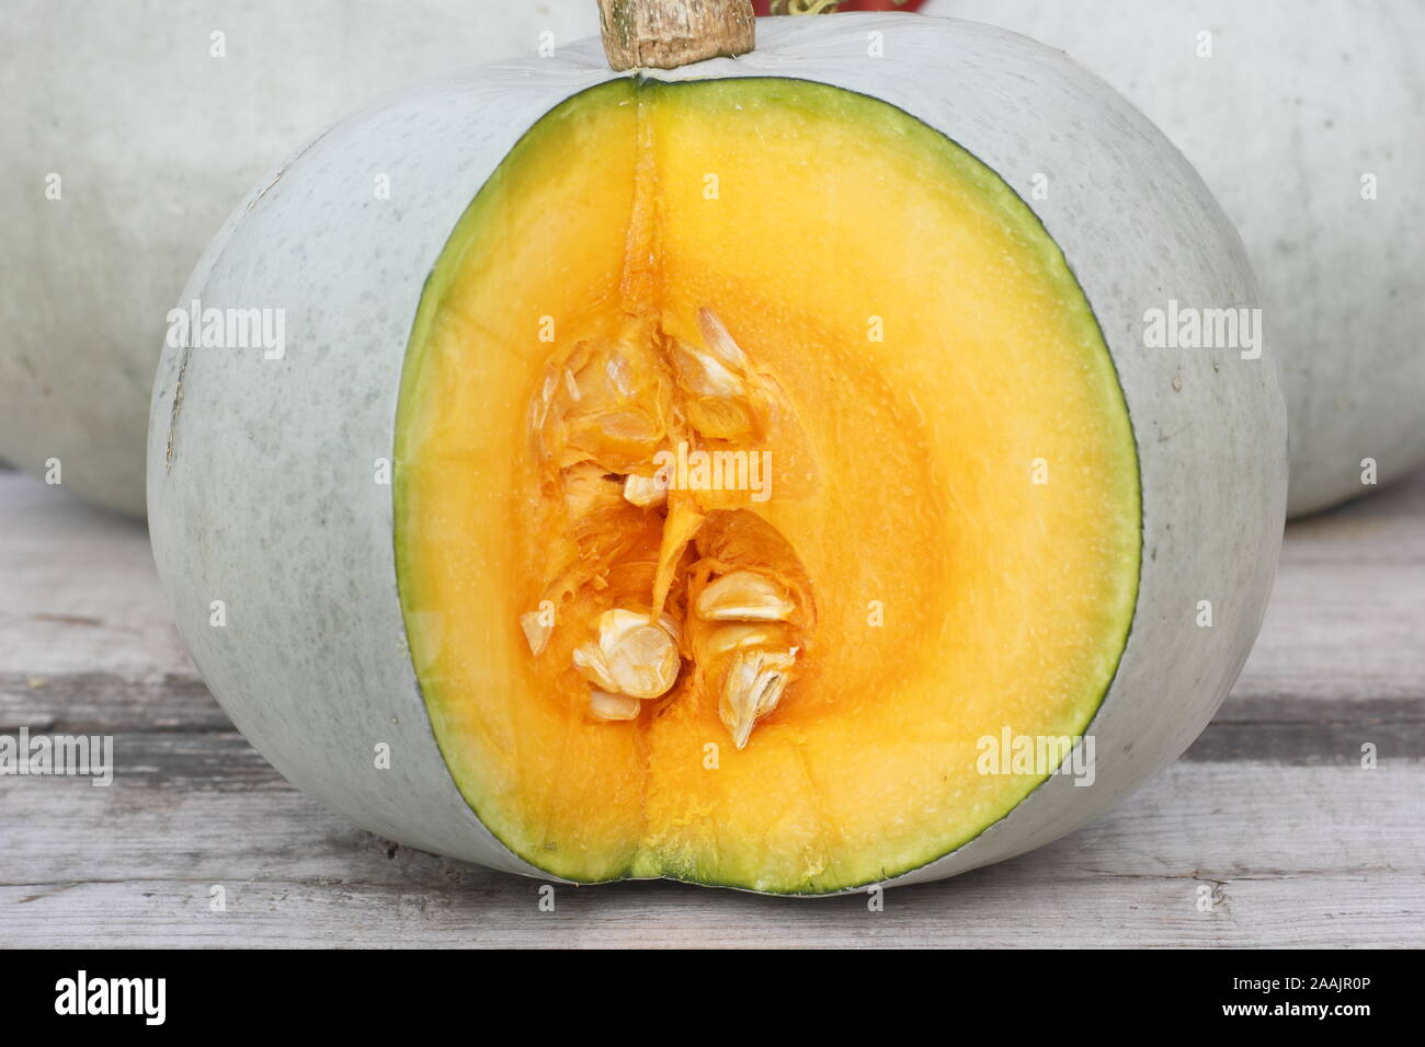
[[[596,33],[593,0],[7,0],[0,457],[141,514],[164,315],[234,204],[383,91],[546,28]]]

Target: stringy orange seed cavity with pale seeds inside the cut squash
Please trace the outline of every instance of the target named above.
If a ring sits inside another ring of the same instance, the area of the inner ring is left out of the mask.
[[[557,536],[542,595],[583,624],[554,637],[530,613],[520,627],[533,657],[553,648],[554,664],[573,665],[590,719],[634,721],[643,702],[691,692],[715,701],[741,749],[807,660],[811,580],[762,516],[721,491],[670,489],[658,459],[771,442],[814,477],[815,456],[785,390],[711,309],[691,338],[637,315],[618,325],[553,359],[530,405],[539,511]]]

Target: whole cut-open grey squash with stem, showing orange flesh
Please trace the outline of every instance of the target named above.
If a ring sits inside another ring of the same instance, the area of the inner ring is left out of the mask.
[[[674,68],[589,41],[393,97],[224,226],[182,301],[288,345],[164,350],[184,638],[296,785],[500,869],[809,895],[1045,843],[1187,746],[1261,623],[1271,352],[1139,322],[1254,308],[1240,241],[1020,37],[745,53],[742,3],[671,7],[606,38]]]

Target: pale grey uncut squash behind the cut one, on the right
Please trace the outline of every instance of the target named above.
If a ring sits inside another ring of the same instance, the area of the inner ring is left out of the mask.
[[[1177,142],[1237,224],[1291,422],[1291,516],[1425,464],[1425,4],[931,0],[1069,51]],[[1198,33],[1213,56],[1197,57]],[[1361,198],[1361,177],[1378,197]]]

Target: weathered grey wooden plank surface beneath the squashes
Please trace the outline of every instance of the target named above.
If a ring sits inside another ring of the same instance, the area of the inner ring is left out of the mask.
[[[20,728],[111,735],[117,769],[0,776],[0,946],[1422,946],[1425,476],[1288,528],[1261,641],[1184,759],[882,912],[670,883],[544,912],[537,880],[356,829],[232,731],[144,528],[0,472],[0,734]]]

